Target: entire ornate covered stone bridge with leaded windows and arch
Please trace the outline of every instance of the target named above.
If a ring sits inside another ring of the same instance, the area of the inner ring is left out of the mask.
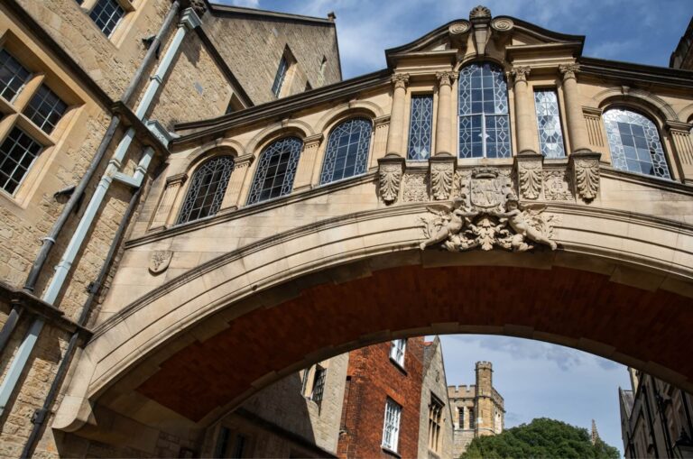
[[[581,58],[582,37],[487,19],[493,40],[457,21],[388,50],[382,72],[180,125],[53,427],[111,439],[204,428],[310,363],[430,334],[567,345],[693,391],[693,84]],[[453,95],[482,57],[513,82],[510,151],[466,157]],[[547,85],[562,156],[538,152],[531,87]],[[431,95],[430,158],[408,155],[419,95]],[[651,173],[610,143],[607,114],[627,109],[656,126]],[[347,170],[329,162],[330,139],[352,120],[369,127],[363,170],[325,179]],[[288,159],[273,163],[276,151]],[[196,178],[222,157],[226,175]],[[288,188],[263,197],[258,177],[281,167]],[[203,188],[213,202],[190,197]]]

